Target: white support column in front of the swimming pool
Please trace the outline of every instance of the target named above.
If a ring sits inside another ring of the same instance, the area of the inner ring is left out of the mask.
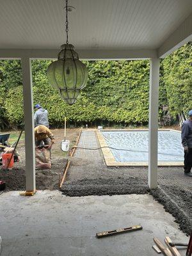
[[[150,60],[150,93],[148,124],[148,186],[157,188],[157,147],[159,110],[159,58]]]

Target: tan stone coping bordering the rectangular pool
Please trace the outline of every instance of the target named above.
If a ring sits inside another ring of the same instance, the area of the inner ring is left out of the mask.
[[[106,140],[104,139],[104,136],[102,135],[102,131],[148,131],[148,129],[104,129],[104,130],[97,130],[97,140],[99,141],[100,147],[106,147],[101,148],[102,154],[104,156],[104,161],[106,162],[106,165],[109,167],[113,166],[148,166],[147,162],[117,162],[115,160],[115,157],[113,156],[110,148],[108,148],[108,144],[106,143]],[[175,129],[158,129],[158,131],[174,131],[174,132],[181,132]],[[181,162],[158,162],[158,166],[184,166]]]

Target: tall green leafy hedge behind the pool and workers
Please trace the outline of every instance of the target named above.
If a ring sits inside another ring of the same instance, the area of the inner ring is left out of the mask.
[[[192,44],[161,60],[159,120],[163,106],[175,120],[180,111],[192,109]],[[52,127],[70,124],[148,124],[149,61],[84,61],[88,84],[73,106],[68,106],[47,81],[51,61],[33,60],[33,98],[49,111]],[[167,113],[167,111],[166,111]],[[20,61],[0,61],[0,127],[23,124]]]

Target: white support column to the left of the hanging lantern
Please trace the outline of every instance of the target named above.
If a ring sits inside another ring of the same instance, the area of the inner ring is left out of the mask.
[[[33,121],[33,91],[31,60],[28,57],[21,58],[22,84],[24,97],[24,125],[26,144],[26,191],[35,191],[35,140]]]

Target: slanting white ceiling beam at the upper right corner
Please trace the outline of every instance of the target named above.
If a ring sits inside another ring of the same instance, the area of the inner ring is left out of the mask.
[[[179,28],[170,35],[158,49],[159,58],[164,58],[168,54],[177,50],[182,45],[192,40],[192,13],[188,16]]]

